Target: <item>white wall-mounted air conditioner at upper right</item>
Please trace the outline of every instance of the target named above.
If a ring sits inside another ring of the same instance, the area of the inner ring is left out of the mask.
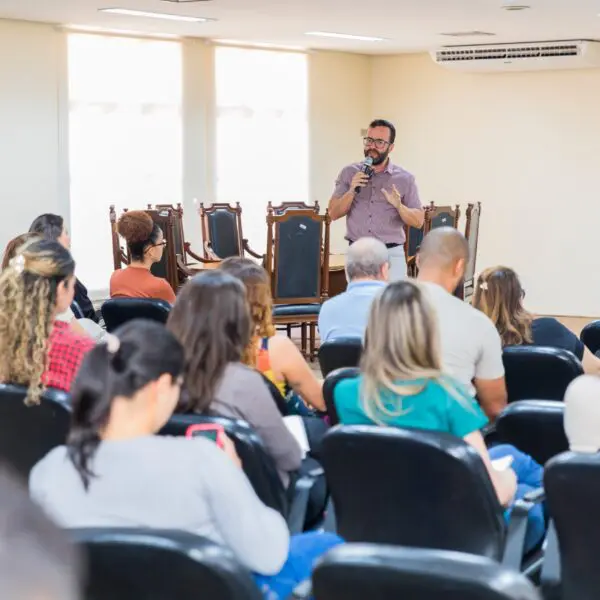
[[[574,40],[519,44],[444,46],[435,63],[457,71],[541,71],[600,67],[600,42]]]

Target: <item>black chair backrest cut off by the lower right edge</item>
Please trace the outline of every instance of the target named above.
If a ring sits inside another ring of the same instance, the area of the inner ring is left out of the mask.
[[[596,600],[600,590],[600,455],[567,452],[544,469],[560,551],[562,600]]]

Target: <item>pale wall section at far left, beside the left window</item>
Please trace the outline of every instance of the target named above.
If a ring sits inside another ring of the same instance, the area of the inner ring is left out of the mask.
[[[49,25],[0,20],[0,244],[42,212],[67,214],[64,38]]]

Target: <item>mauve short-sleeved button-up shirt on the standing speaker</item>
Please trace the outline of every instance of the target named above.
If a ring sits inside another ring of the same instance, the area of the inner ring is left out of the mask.
[[[350,182],[362,163],[348,165],[335,182],[334,198],[340,198],[350,189]],[[402,204],[421,208],[415,178],[403,168],[388,161],[381,173],[373,174],[369,183],[356,194],[346,215],[346,239],[355,242],[361,237],[374,237],[384,244],[404,244],[404,222],[398,211],[385,199],[382,190],[392,192],[396,186]]]

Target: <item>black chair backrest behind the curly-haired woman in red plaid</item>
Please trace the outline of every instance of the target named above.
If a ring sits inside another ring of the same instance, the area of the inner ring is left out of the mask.
[[[0,459],[24,478],[50,450],[64,444],[71,422],[70,397],[47,389],[39,405],[26,406],[20,385],[0,384]]]

